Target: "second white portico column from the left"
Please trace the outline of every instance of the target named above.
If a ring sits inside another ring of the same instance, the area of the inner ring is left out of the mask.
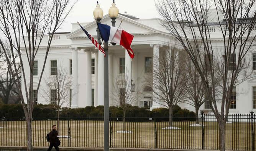
[[[85,106],[92,106],[92,51],[85,50]]]

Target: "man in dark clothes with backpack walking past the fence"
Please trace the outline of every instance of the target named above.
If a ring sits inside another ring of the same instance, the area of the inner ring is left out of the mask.
[[[49,133],[50,146],[47,151],[51,151],[53,147],[56,149],[56,151],[59,151],[59,135],[56,129],[57,126],[53,125],[53,130]]]

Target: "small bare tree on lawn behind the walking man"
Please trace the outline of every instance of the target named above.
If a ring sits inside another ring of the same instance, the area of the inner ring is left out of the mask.
[[[62,109],[69,106],[70,89],[72,79],[68,75],[67,68],[62,63],[57,67],[56,75],[48,77],[45,80],[47,87],[43,88],[43,98],[46,102],[53,104],[53,108],[57,111],[57,127],[60,133],[59,116]]]

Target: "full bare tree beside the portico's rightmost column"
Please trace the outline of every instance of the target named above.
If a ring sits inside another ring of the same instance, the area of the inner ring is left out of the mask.
[[[153,76],[147,77],[147,83],[153,88],[153,101],[169,109],[169,126],[172,126],[172,109],[182,102],[185,90],[184,61],[182,53],[177,48],[164,47],[161,56],[154,56],[155,66]]]

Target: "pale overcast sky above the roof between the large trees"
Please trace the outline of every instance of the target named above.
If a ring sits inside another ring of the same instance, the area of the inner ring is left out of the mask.
[[[75,0],[72,0],[73,2]],[[113,0],[98,0],[103,15],[108,13]],[[119,13],[125,13],[136,16],[137,18],[158,18],[156,12],[155,0],[115,0]],[[61,29],[58,32],[71,31],[71,23],[74,22],[92,22],[94,21],[93,11],[96,8],[97,0],[78,0],[67,17]]]

